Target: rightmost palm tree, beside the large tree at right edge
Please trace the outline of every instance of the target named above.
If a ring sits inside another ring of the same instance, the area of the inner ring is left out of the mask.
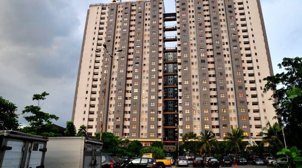
[[[282,138],[282,127],[279,123],[275,122],[273,125],[267,122],[267,127],[262,128],[263,142],[269,143],[269,148],[271,153],[276,153],[280,151],[283,147],[283,143],[280,140]]]

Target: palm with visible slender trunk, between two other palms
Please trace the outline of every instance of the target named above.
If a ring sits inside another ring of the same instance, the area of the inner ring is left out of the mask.
[[[236,159],[236,162],[237,162],[237,159],[238,159],[238,151],[246,143],[246,142],[243,141],[243,139],[245,139],[245,138],[249,138],[249,137],[246,136],[246,135],[244,135],[244,130],[242,130],[240,128],[232,128],[231,129],[231,133],[230,132],[226,132],[225,133],[225,137],[223,138],[224,140],[226,140],[226,146],[227,147],[235,146],[235,151],[236,151],[235,159]]]

